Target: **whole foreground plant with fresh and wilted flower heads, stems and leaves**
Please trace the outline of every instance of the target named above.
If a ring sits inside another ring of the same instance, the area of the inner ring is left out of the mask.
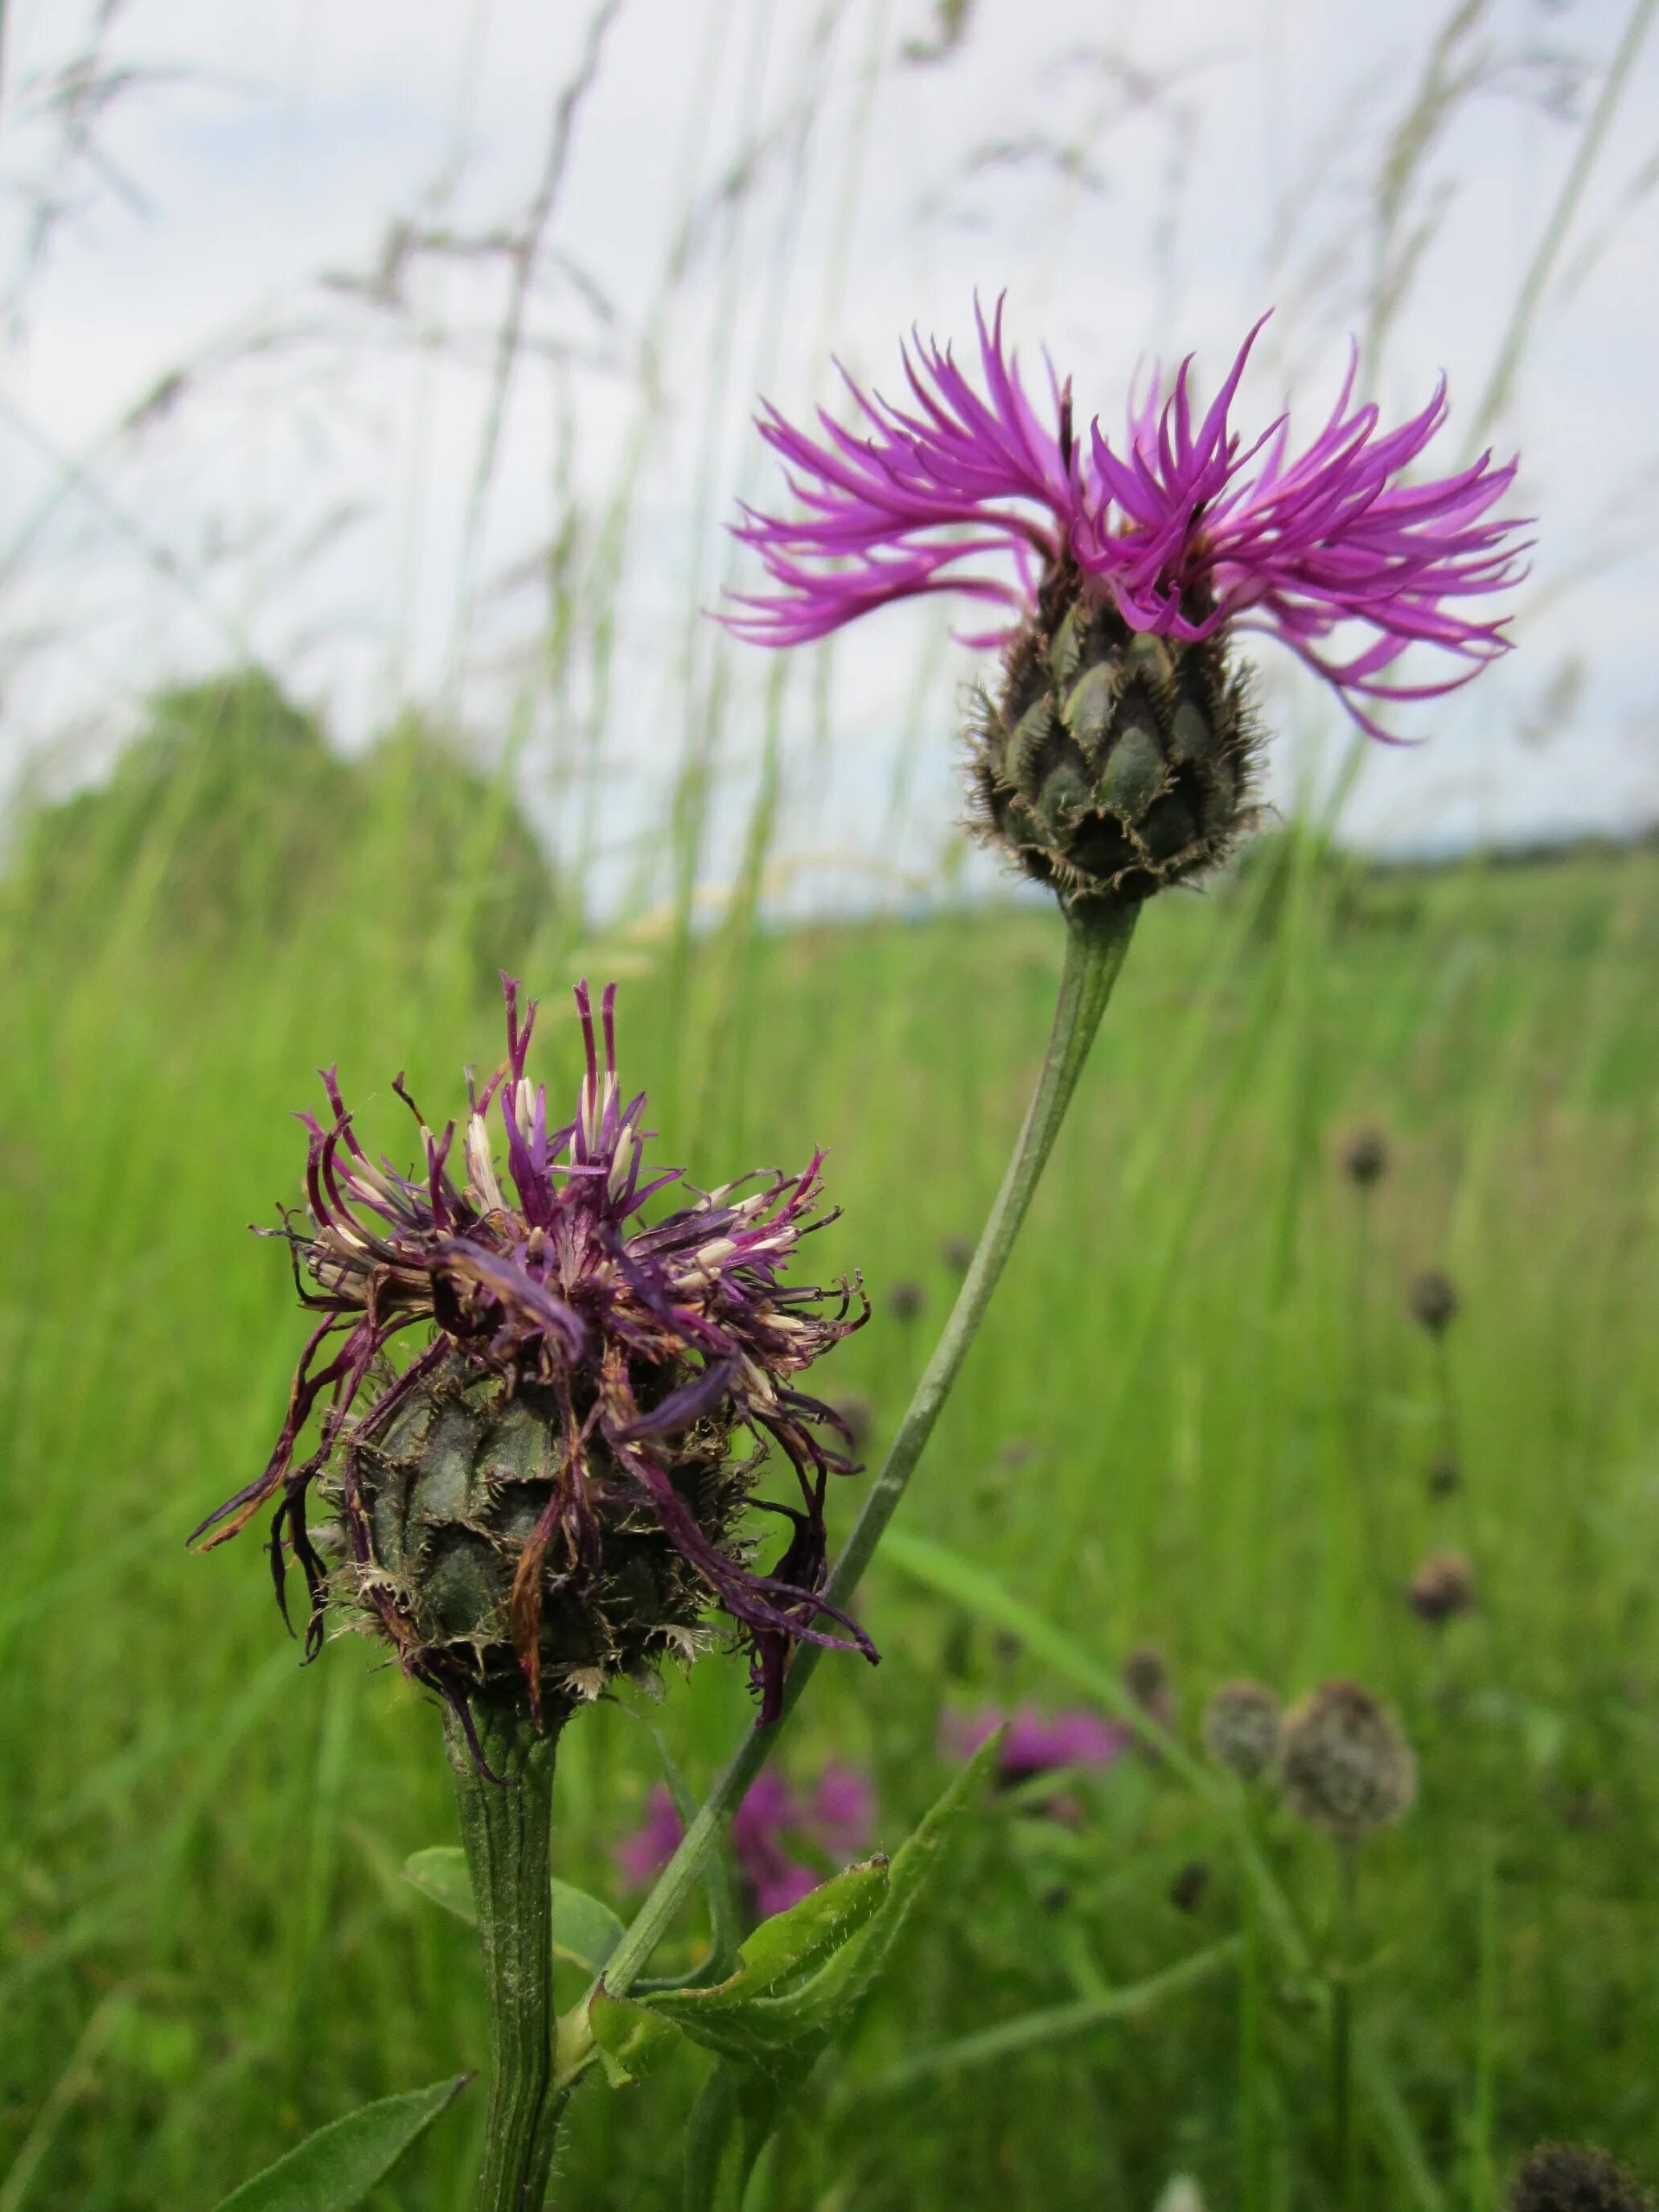
[[[980,1745],[891,1869],[872,1860],[810,1889],[805,1869],[774,1869],[774,1896],[754,1893],[781,1911],[741,1951],[712,1882],[710,1958],[684,1986],[641,1982],[818,1655],[874,1657],[847,1601],[987,1312],[1141,905],[1212,867],[1252,818],[1261,730],[1239,641],[1279,639],[1374,737],[1391,706],[1440,697],[1509,644],[1491,602],[1520,573],[1515,524],[1495,513],[1513,467],[1482,456],[1407,480],[1444,420],[1444,389],[1383,431],[1376,407],[1354,403],[1349,367],[1325,427],[1292,451],[1283,416],[1254,438],[1234,427],[1252,332],[1203,411],[1188,361],[1113,442],[1099,422],[1079,431],[1068,383],[1051,376],[1042,405],[1026,392],[1000,310],[978,336],[978,383],[949,347],[918,343],[911,403],[849,383],[852,427],[823,414],[812,436],[765,409],[796,511],[745,511],[739,538],[765,586],[726,615],[739,637],[796,646],[920,593],[991,608],[980,641],[1002,648],[1002,675],[969,732],[973,821],[1066,918],[1048,1053],[1009,1172],[834,1568],[825,1493],[852,1471],[852,1440],[799,1376],[867,1305],[849,1285],[785,1285],[818,1225],[818,1159],[653,1219],[646,1206],[675,1175],[644,1175],[644,1108],[622,1102],[611,993],[604,1057],[577,993],[586,1077],[575,1119],[551,1128],[524,1075],[533,1009],[520,1020],[513,984],[507,1062],[471,1102],[465,1172],[451,1170],[456,1124],[440,1137],[420,1124],[411,1175],[372,1161],[325,1077],[305,1217],[288,1225],[319,1321],[270,1464],[199,1531],[217,1544],[270,1509],[279,1593],[290,1568],[307,1586],[307,1648],[341,1608],[445,1701],[491,2002],[480,2212],[540,2212],[571,2084],[599,2055],[613,2079],[633,2079],[672,2037],[714,2053],[684,2201],[737,2201],[787,2097],[858,2015],[971,1790],[993,1778],[1004,1741],[1006,1759],[1022,1754],[1018,1725]],[[1407,679],[1413,648],[1440,668]],[[900,1307],[920,1314],[896,1290],[896,1318]],[[387,1347],[405,1329],[425,1338],[398,1371]],[[757,1451],[737,1458],[737,1438]],[[754,1493],[768,1447],[794,1473],[785,1504]],[[785,1520],[770,1564],[745,1533],[750,1504]],[[690,1657],[714,1606],[750,1650],[759,1725],[628,1931],[586,1900],[604,1938],[595,1982],[555,2044],[557,1730],[611,1681]],[[1121,1703],[1168,1732],[1161,1663],[1130,1670]],[[1071,1756],[1117,1756],[1119,1732],[1084,1719]],[[1287,1723],[1287,1776],[1292,1734]]]

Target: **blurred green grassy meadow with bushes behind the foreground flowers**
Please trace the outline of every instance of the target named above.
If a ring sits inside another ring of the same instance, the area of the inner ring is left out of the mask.
[[[358,1637],[301,1668],[259,1537],[186,1535],[261,1464],[303,1327],[272,1223],[314,1071],[398,1164],[500,1053],[495,969],[617,978],[657,1155],[717,1183],[827,1152],[816,1239],[869,1325],[825,1387],[891,1431],[1024,1110],[1060,922],[1018,900],[593,936],[507,790],[405,726],[345,768],[248,681],[177,695],[0,887],[0,2212],[208,2212],[305,2130],[484,2059],[469,1933],[403,1878],[456,1840],[438,1712]],[[1659,2172],[1659,854],[1367,872],[1281,825],[1144,916],[1033,1219],[785,1750],[865,1765],[896,1847],[947,1714],[1117,1699],[1175,1745],[980,1807],[750,2197],[768,2212],[1334,2203],[1332,1845],[1199,1750],[1210,1690],[1347,1674],[1409,1818],[1358,1867],[1358,2201],[1498,2205],[1540,2137]],[[1340,1150],[1387,1139],[1360,1192]],[[1444,1267],[1444,1356],[1407,1307]],[[920,1296],[918,1296],[920,1294]],[[1453,1453],[1455,1486],[1431,1484]],[[841,1486],[838,1526],[858,1478]],[[1475,1604],[1405,1584],[1464,1553]],[[741,1668],[566,1732],[562,1874],[661,1754],[701,1787]],[[1252,1876],[1250,1869],[1256,1869]],[[664,1966],[695,1964],[703,1924]],[[580,1982],[573,1975],[571,1995]],[[1128,1995],[1124,1995],[1128,1993]],[[1121,2002],[1115,2002],[1121,1997]],[[697,2090],[588,2081],[560,2203],[677,2205]],[[478,2088],[372,2199],[449,2212]]]

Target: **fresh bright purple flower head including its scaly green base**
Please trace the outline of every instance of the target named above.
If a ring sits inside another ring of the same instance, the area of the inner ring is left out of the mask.
[[[971,734],[975,821],[1068,907],[1133,905],[1248,827],[1237,635],[1276,637],[1374,737],[1387,706],[1455,690],[1509,648],[1486,604],[1522,573],[1517,524],[1493,515],[1513,465],[1486,453],[1405,482],[1444,422],[1444,383],[1383,431],[1354,403],[1354,358],[1303,451],[1287,416],[1245,440],[1232,407],[1256,323],[1203,414],[1188,358],[1115,445],[1099,422],[1079,436],[1053,369],[1042,400],[1026,392],[1000,303],[975,319],[978,380],[916,338],[909,405],[847,378],[856,427],[821,411],[812,436],[763,409],[799,511],[743,511],[737,535],[770,582],[728,624],[794,646],[927,593],[991,611],[967,639],[1004,648]],[[1402,679],[1413,646],[1440,657],[1422,681]]]

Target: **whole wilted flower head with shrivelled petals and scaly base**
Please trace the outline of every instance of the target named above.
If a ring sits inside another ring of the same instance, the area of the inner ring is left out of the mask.
[[[307,1652],[341,1601],[467,1728],[478,1697],[526,1701],[557,1725],[617,1672],[690,1657],[710,1601],[750,1646],[768,1721],[796,1641],[876,1657],[818,1599],[827,1478],[854,1469],[845,1422],[794,1385],[869,1314],[856,1281],[783,1281],[801,1239],[834,1219],[814,1214],[821,1159],[712,1192],[684,1183],[690,1203],[648,1223],[641,1208],[681,1170],[644,1170],[644,1097],[624,1104],[617,1082],[615,989],[599,1051],[577,987],[586,1075],[555,1128],[524,1073],[535,1004],[504,987],[507,1060],[471,1097],[465,1170],[451,1166],[456,1124],[434,1137],[403,1077],[425,1166],[372,1161],[325,1073],[330,1117],[301,1117],[305,1212],[279,1232],[321,1318],[265,1471],[197,1537],[219,1544],[274,1500],[276,1593],[296,1564]],[[416,1325],[431,1340],[394,1374],[387,1345]],[[739,1433],[754,1444],[745,1460],[730,1451]],[[796,1504],[752,1495],[772,1444]],[[314,1489],[338,1524],[338,1568],[307,1520]],[[750,1504],[790,1524],[770,1573],[737,1533]]]

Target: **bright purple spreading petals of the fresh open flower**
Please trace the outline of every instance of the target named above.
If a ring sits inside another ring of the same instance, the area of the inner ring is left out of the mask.
[[[1265,630],[1314,668],[1374,737],[1371,703],[1433,699],[1509,648],[1502,619],[1467,611],[1524,573],[1520,524],[1493,518],[1515,478],[1482,453],[1418,484],[1402,471],[1447,418],[1444,378],[1409,422],[1378,431],[1354,405],[1358,354],[1314,442],[1290,458],[1290,418],[1254,442],[1230,407],[1261,323],[1194,425],[1192,358],[1130,414],[1119,449],[1095,422],[1073,438],[1071,385],[1051,383],[1051,420],[1002,349],[1002,305],[975,310],[984,389],[949,347],[905,354],[914,409],[847,389],[863,429],[818,414],[823,440],[774,407],[761,436],[785,462],[803,513],[745,509],[737,535],[774,591],[737,599],[730,628],[757,644],[827,637],[889,599],[956,591],[1011,608],[1006,637],[1035,606],[1042,571],[1068,553],[1137,630],[1192,641],[1219,628]],[[1265,316],[1263,316],[1265,321]],[[1009,566],[1013,573],[1009,573]],[[1340,655],[1347,624],[1369,641]],[[1411,646],[1460,666],[1420,684],[1385,681]]]

